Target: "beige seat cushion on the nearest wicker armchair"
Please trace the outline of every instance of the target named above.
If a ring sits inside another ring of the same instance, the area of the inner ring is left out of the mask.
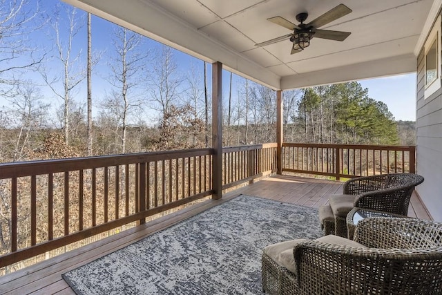
[[[278,242],[278,244],[269,245],[264,248],[264,253],[269,256],[278,265],[289,269],[290,272],[296,273],[296,263],[293,255],[293,248],[299,242],[309,241],[305,239],[287,240],[286,242]],[[316,239],[318,242],[325,242],[327,244],[349,246],[356,248],[367,248],[364,245],[348,240],[340,236],[328,235]]]

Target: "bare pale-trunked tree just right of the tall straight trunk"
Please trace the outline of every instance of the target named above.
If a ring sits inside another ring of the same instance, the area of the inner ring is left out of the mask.
[[[122,102],[118,104],[122,107],[119,110],[122,112],[121,152],[126,153],[128,119],[132,108],[141,104],[137,99],[139,93],[135,90],[143,84],[142,74],[148,53],[145,49],[141,50],[142,36],[122,27],[115,29],[113,46],[116,55],[109,64],[112,76],[108,81],[114,86],[114,90],[111,97],[106,99],[106,104],[116,102],[115,98]]]

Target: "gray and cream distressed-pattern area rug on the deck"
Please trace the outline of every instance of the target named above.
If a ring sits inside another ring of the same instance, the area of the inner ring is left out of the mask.
[[[316,209],[238,196],[63,278],[77,294],[262,294],[262,248],[321,235]]]

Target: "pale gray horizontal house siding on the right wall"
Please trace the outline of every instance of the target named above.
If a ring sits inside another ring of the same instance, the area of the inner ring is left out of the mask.
[[[425,181],[416,187],[434,220],[442,221],[442,93],[425,99],[423,50],[417,59],[416,173]]]

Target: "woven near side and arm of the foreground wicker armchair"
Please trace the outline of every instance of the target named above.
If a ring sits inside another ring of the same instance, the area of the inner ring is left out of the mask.
[[[311,290],[313,294],[363,294],[367,289],[389,294],[408,284],[410,276],[423,282],[422,285],[428,285],[427,282],[434,278],[425,272],[441,269],[440,250],[366,249],[317,241],[302,242],[294,247],[296,278],[300,289]],[[423,265],[423,260],[428,265]],[[422,274],[416,269],[422,269]],[[442,274],[435,276],[440,280]],[[396,280],[388,280],[390,277]]]

